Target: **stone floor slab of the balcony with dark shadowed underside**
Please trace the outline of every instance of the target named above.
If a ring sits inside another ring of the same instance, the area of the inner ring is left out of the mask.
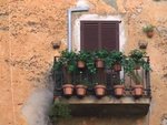
[[[117,116],[117,115],[147,115],[150,105],[150,97],[135,100],[132,96],[97,98],[86,96],[84,98],[61,98],[69,103],[73,116]]]

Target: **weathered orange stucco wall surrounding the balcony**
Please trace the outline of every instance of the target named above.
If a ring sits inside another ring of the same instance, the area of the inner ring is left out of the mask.
[[[89,14],[122,17],[125,52],[138,48],[139,40],[148,41],[147,52],[153,67],[153,101],[150,113],[146,117],[119,118],[120,123],[116,118],[73,118],[73,123],[167,125],[167,1],[89,2]],[[50,70],[53,55],[59,55],[59,51],[66,49],[67,10],[75,7],[75,3],[76,0],[0,0],[0,125],[48,124],[46,108],[52,98]],[[72,23],[79,17],[81,13],[75,14]],[[153,39],[148,39],[141,30],[147,23],[156,27]],[[51,43],[59,41],[62,43],[60,50],[53,50]],[[35,98],[38,100],[37,103]],[[32,113],[28,112],[30,107],[33,107]],[[39,117],[43,123],[39,122]]]

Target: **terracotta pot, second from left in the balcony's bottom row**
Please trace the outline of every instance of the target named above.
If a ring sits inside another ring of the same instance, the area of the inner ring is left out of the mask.
[[[76,85],[76,93],[78,96],[85,96],[87,93],[87,86],[86,85]]]

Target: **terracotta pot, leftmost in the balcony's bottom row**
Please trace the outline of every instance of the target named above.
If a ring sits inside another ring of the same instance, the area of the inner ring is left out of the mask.
[[[65,85],[62,85],[62,91],[63,91],[65,95],[71,96],[73,93],[73,85],[72,84],[65,84]]]

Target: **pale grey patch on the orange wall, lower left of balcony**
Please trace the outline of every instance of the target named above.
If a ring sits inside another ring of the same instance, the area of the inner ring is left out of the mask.
[[[36,90],[22,107],[28,125],[49,125],[48,111],[53,92],[49,88]]]

